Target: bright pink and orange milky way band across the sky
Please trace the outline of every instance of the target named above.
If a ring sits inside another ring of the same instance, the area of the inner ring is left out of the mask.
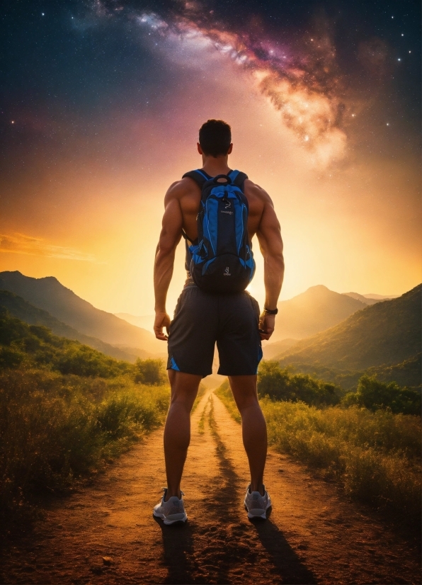
[[[93,9],[98,18],[121,17],[124,6],[111,7],[96,1]],[[203,15],[205,6],[187,2],[176,13],[161,18],[152,11],[127,11],[127,18],[140,31],[152,31],[156,38],[178,38],[212,46],[232,59],[280,112],[280,123],[288,127],[302,146],[314,154],[319,166],[326,166],[346,154],[347,135],[343,118],[346,100],[336,64],[336,50],[324,21],[319,20],[313,33],[307,33],[299,46],[292,46],[283,35],[242,30],[224,30]],[[349,114],[350,115],[350,114]]]

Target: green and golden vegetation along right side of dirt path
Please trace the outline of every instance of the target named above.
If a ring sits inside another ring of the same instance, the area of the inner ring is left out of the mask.
[[[348,496],[419,518],[422,429],[413,413],[420,394],[367,376],[341,402],[338,390],[261,363],[258,394],[270,445],[336,479]],[[240,422],[228,381],[216,394]]]

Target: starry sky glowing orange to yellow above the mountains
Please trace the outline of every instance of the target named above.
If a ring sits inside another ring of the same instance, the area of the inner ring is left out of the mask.
[[[222,118],[280,220],[282,299],[413,288],[420,22],[410,0],[4,1],[0,271],[152,314],[164,194]],[[184,278],[181,244],[169,312]]]

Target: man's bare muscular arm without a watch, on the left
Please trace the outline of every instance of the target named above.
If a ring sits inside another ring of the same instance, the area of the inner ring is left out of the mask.
[[[154,263],[155,321],[154,333],[157,339],[166,341],[169,333],[170,317],[166,312],[167,291],[173,276],[174,255],[182,237],[182,212],[178,200],[179,183],[173,183],[164,198],[164,211],[161,234]]]

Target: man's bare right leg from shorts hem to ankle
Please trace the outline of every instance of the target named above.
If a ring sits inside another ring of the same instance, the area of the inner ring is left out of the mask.
[[[256,394],[256,375],[229,376],[234,400],[241,414],[241,431],[251,470],[251,492],[263,495],[267,457],[267,426]]]

